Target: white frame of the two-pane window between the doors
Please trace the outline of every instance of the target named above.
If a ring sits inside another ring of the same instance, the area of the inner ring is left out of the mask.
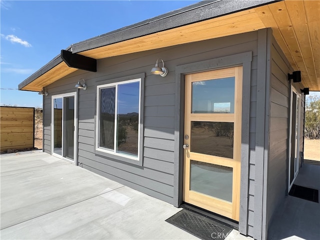
[[[117,91],[118,91],[118,85],[122,85],[122,84],[127,84],[127,83],[132,83],[132,82],[139,82],[139,116],[138,116],[138,154],[137,156],[132,156],[129,154],[125,154],[125,153],[119,153],[116,152],[116,126],[117,126]],[[99,151],[99,152],[103,152],[103,153],[109,153],[111,155],[114,156],[120,156],[120,157],[124,157],[127,159],[132,159],[135,161],[139,161],[140,160],[140,154],[141,154],[141,150],[140,150],[140,139],[141,139],[141,92],[142,92],[142,80],[141,78],[134,78],[134,79],[130,79],[130,80],[126,80],[126,81],[117,81],[117,82],[113,82],[113,83],[107,83],[107,84],[102,84],[102,85],[97,85],[96,87],[96,134],[95,134],[95,150]],[[99,139],[100,139],[100,89],[103,88],[108,88],[108,87],[115,87],[115,116],[114,116],[114,146],[113,146],[113,150],[108,149],[108,148],[104,148],[104,147],[100,147],[99,146]]]

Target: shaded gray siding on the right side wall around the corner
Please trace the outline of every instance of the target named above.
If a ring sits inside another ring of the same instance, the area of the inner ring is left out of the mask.
[[[273,37],[270,53],[270,133],[266,190],[266,228],[272,220],[274,212],[288,193],[291,84],[297,90],[301,88],[300,83],[290,83],[288,81],[287,74],[291,73],[293,69]],[[304,101],[303,95],[301,98]],[[303,112],[304,108],[301,107],[300,151],[302,151],[303,145]]]

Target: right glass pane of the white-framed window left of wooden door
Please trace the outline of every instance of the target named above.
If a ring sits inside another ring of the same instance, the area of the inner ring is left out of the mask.
[[[139,82],[118,85],[116,152],[138,155]]]

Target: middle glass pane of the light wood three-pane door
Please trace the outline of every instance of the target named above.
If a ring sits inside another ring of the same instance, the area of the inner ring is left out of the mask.
[[[191,151],[233,158],[233,122],[191,121]]]

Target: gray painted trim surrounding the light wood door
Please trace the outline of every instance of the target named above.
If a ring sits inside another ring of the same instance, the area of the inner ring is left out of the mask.
[[[182,204],[183,191],[183,122],[184,122],[184,76],[185,74],[215,70],[242,65],[242,136],[241,136],[241,185],[240,213],[238,227],[241,233],[247,233],[248,193],[249,193],[249,107],[251,85],[252,51],[191,62],[175,67],[175,128],[174,128],[174,175],[173,200],[174,206]]]

